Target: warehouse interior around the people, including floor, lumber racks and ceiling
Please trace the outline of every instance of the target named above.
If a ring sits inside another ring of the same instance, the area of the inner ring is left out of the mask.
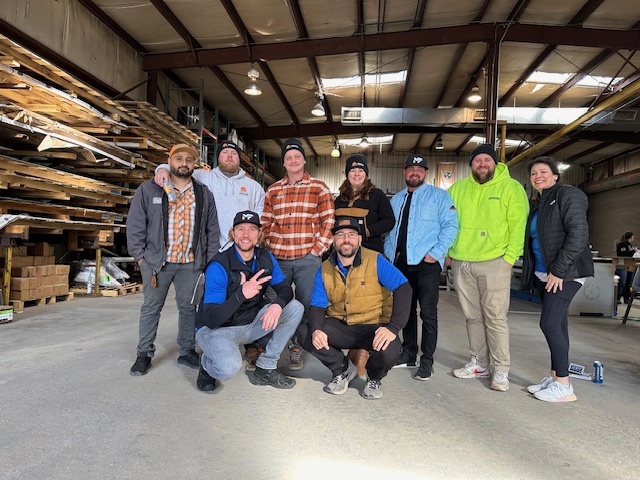
[[[639,48],[640,3],[625,0],[3,0],[0,478],[634,478],[640,310],[622,324],[613,257],[640,232]],[[289,137],[333,193],[353,153],[388,195],[412,153],[446,188],[494,143],[528,193],[527,162],[559,160],[601,259],[572,352],[604,363],[604,386],[580,382],[569,409],[519,391],[547,355],[526,295],[510,316],[520,389],[454,379],[465,335],[448,288],[434,379],[394,371],[375,406],[324,398],[314,362],[292,396],[244,374],[203,396],[173,359],[171,296],[160,368],[128,375],[135,190],[172,145],[210,168],[225,139],[266,189]],[[129,278],[101,285],[112,266]]]

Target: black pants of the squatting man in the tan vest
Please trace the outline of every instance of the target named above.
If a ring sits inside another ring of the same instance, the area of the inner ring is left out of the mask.
[[[364,348],[369,350],[367,361],[367,375],[371,380],[381,380],[395,364],[400,355],[400,339],[396,339],[380,352],[373,350],[373,337],[376,330],[383,324],[372,325],[347,325],[336,319],[327,317],[322,331],[329,337],[329,350],[316,348],[311,343],[311,331],[309,324],[300,324],[298,333],[302,338],[302,348],[320,360],[335,377],[344,372],[347,365],[342,349]]]

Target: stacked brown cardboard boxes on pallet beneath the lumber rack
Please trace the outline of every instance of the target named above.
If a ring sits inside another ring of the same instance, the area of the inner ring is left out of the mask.
[[[39,300],[69,293],[69,265],[56,265],[48,243],[13,247],[10,300]]]

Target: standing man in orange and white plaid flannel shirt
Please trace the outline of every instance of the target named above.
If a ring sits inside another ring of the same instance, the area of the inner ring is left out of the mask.
[[[324,182],[305,171],[307,157],[300,140],[285,140],[281,153],[287,173],[267,189],[262,230],[265,247],[296,286],[296,299],[304,305],[302,322],[307,323],[315,274],[333,241],[333,195]],[[303,368],[302,348],[294,335],[289,369]]]

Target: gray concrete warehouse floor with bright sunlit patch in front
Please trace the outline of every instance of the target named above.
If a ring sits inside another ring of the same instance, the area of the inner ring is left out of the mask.
[[[76,298],[0,325],[1,479],[624,479],[640,474],[640,323],[571,318],[571,360],[604,364],[603,385],[574,380],[578,401],[524,388],[546,373],[537,306],[513,300],[511,390],[460,380],[466,330],[441,292],[435,374],[392,370],[384,397],[322,392],[330,373],[306,356],[293,390],[243,371],[214,394],[176,363],[173,297],[157,354],[129,375],[142,295]],[[526,313],[529,312],[529,313]],[[640,310],[634,307],[633,316]]]

